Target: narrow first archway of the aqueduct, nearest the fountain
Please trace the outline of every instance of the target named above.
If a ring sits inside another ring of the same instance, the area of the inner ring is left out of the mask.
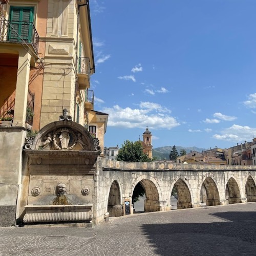
[[[110,217],[120,217],[123,215],[123,207],[121,205],[120,188],[116,180],[110,187],[108,200],[108,212]]]

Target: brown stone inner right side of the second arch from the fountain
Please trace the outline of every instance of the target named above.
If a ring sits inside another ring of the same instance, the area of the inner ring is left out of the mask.
[[[159,195],[156,185],[152,181],[147,179],[143,179],[139,183],[141,184],[145,191],[146,199],[144,200],[144,211],[159,211]]]

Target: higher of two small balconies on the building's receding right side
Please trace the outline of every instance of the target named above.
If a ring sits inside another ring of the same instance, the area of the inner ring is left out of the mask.
[[[86,57],[77,58],[77,77],[79,89],[85,90],[90,88],[91,67],[90,60]]]

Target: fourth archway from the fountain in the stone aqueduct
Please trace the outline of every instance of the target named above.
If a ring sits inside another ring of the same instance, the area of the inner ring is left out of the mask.
[[[206,206],[220,205],[220,195],[217,185],[210,177],[207,177],[202,184],[200,201],[206,202]]]

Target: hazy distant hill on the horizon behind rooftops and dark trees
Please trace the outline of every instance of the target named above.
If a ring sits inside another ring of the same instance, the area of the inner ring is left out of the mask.
[[[202,152],[205,151],[206,148],[199,148],[196,146],[191,146],[191,147],[183,147],[183,146],[175,146],[178,154],[180,155],[181,150],[185,150],[186,153],[189,153],[190,151],[197,151],[197,152]],[[152,150],[152,155],[153,157],[157,157],[159,159],[169,159],[169,154],[173,150],[173,146],[162,146],[162,147],[157,147],[153,148]]]

